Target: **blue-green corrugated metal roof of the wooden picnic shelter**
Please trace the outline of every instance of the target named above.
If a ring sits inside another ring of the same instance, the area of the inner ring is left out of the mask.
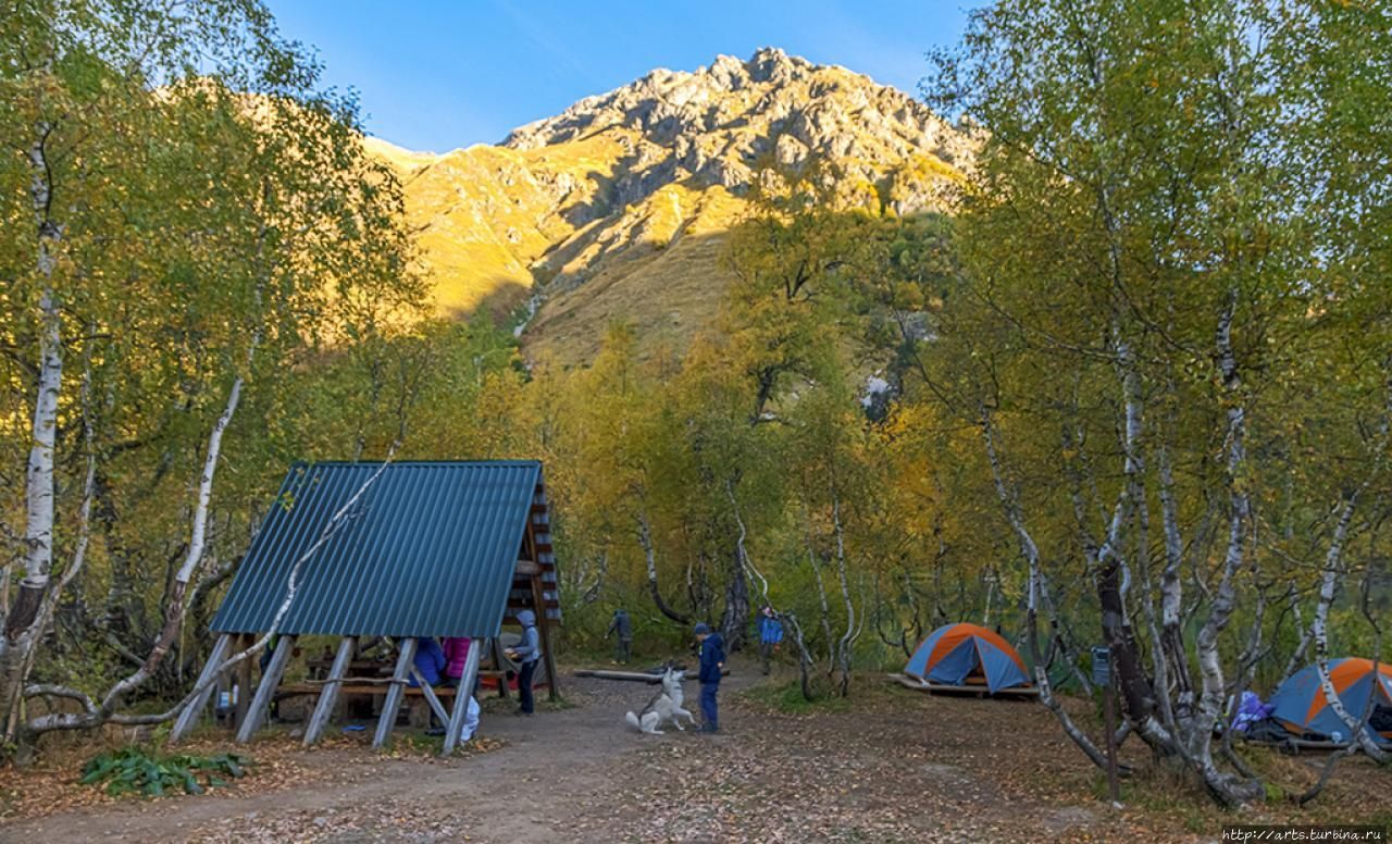
[[[380,465],[295,464],[212,630],[269,630],[295,561]],[[540,485],[537,461],[388,465],[303,564],[281,632],[497,635]]]

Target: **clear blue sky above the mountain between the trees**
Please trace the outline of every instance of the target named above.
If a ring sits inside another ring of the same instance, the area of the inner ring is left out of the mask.
[[[654,67],[782,47],[916,93],[970,0],[267,0],[281,32],[355,88],[367,130],[409,149],[501,141]]]

